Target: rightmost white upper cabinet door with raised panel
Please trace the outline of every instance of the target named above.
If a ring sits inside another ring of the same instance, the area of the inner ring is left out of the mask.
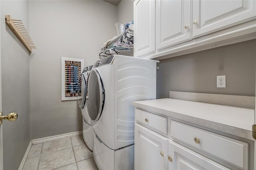
[[[256,0],[193,0],[193,38],[256,19]]]

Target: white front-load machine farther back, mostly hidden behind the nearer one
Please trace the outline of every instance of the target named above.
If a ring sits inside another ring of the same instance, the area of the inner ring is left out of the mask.
[[[82,93],[82,98],[78,97],[78,106],[80,107],[82,113],[83,139],[90,150],[93,150],[93,129],[91,118],[86,107],[86,98],[88,98],[87,82],[92,68],[93,65],[85,67],[78,79],[78,86],[81,86]]]

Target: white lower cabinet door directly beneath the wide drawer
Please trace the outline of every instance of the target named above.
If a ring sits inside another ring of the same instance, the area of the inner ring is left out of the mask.
[[[169,140],[168,150],[168,170],[228,170],[228,168],[171,140]]]

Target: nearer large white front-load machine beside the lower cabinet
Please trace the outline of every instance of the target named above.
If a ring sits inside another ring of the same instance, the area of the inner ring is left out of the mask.
[[[131,102],[156,99],[157,62],[112,55],[94,64],[86,106],[94,130],[93,156],[100,170],[134,169]]]

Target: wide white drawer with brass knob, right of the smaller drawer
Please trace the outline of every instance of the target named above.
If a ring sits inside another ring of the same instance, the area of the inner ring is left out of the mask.
[[[184,123],[171,121],[171,137],[201,149],[222,160],[248,169],[248,144],[208,132]]]

